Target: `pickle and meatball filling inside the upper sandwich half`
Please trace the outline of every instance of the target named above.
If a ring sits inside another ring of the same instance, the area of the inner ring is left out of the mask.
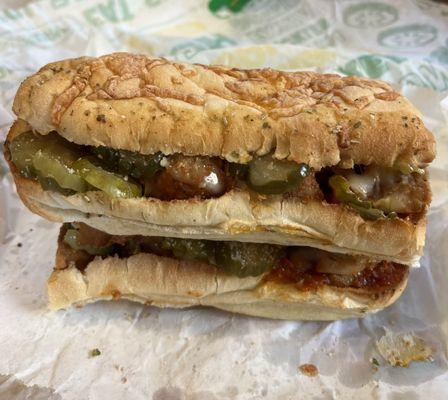
[[[100,190],[111,197],[170,201],[249,190],[263,197],[341,203],[365,219],[418,219],[430,201],[425,170],[403,162],[388,168],[355,165],[314,171],[271,154],[237,164],[218,157],[144,155],[83,146],[56,132],[31,131],[7,143],[7,156],[21,176],[67,196]]]

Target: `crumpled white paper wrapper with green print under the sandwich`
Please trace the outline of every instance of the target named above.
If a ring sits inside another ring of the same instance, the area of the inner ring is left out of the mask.
[[[448,7],[255,3],[234,15],[213,15],[204,1],[54,0],[1,9],[2,139],[19,82],[49,61],[81,54],[128,50],[387,80],[422,111],[438,143],[425,255],[408,289],[379,314],[338,322],[125,301],[49,312],[45,285],[59,225],[25,209],[3,169],[0,399],[447,398]],[[267,41],[276,44],[260,45]]]

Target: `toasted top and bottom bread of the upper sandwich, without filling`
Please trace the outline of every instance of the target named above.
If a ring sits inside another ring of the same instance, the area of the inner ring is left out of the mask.
[[[88,185],[74,194],[43,190],[11,161],[14,138],[33,131],[56,133],[85,151],[103,146],[138,155],[203,157],[217,165],[270,156],[305,165],[316,177],[359,166],[405,166],[409,174],[425,174],[435,156],[434,138],[418,111],[385,82],[116,53],[46,65],[22,83],[13,110],[18,120],[5,154],[17,191],[33,212],[50,220],[81,221],[111,234],[306,245],[407,265],[422,254],[430,202],[426,178],[412,192],[422,193],[417,208],[395,212],[386,196],[378,202],[385,212],[374,209],[380,217],[372,220],[359,212],[359,204],[372,209],[369,198],[358,199],[358,208],[335,201],[327,178],[316,178],[309,196],[294,192],[300,185],[292,194],[265,195],[230,184],[219,195],[200,191],[167,199],[159,193],[168,182],[160,175],[157,185],[142,183],[149,194],[117,198]],[[160,165],[169,162],[162,159]],[[176,185],[171,195],[188,186]]]

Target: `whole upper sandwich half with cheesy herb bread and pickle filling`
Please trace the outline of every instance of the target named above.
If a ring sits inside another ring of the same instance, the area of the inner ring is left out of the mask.
[[[406,265],[422,254],[434,138],[384,82],[116,53],[46,65],[13,109],[5,155],[45,218]]]

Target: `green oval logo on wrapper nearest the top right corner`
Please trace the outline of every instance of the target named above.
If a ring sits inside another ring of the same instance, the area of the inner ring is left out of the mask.
[[[426,24],[411,24],[387,29],[378,35],[378,43],[392,49],[421,47],[437,38],[437,28]]]

